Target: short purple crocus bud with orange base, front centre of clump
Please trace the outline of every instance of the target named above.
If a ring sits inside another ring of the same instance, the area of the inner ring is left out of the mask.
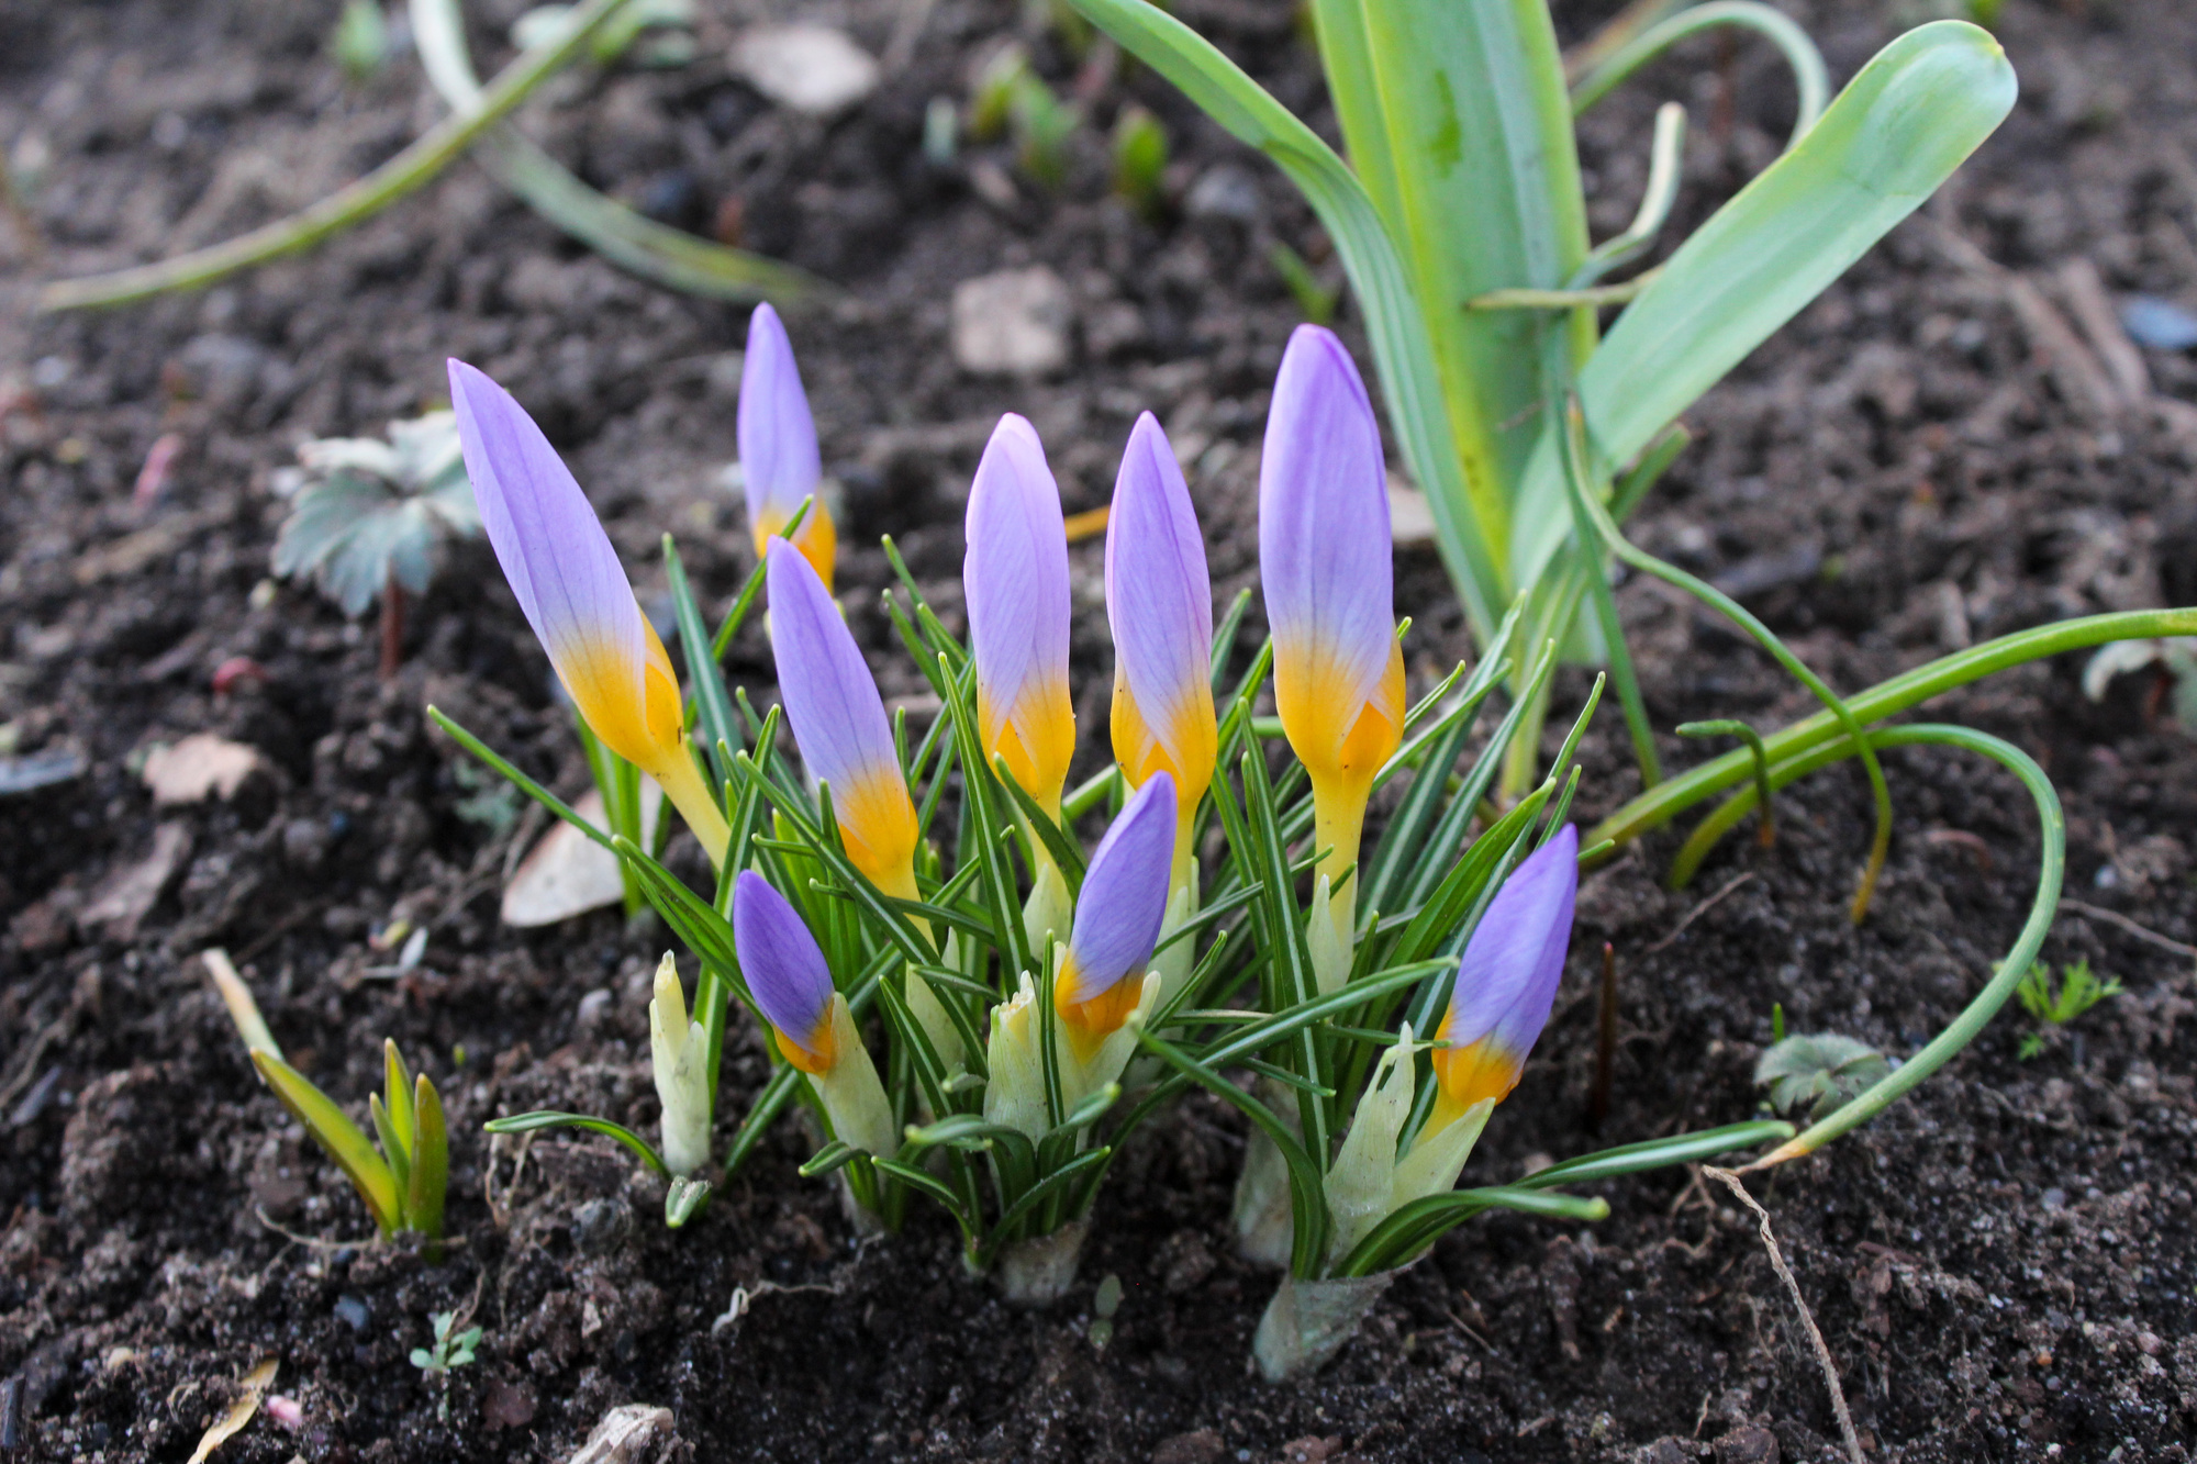
[[[1098,840],[1068,952],[1052,978],[1052,1009],[1077,1057],[1090,1060],[1145,998],[1151,947],[1167,914],[1175,846],[1175,780],[1158,772]]]

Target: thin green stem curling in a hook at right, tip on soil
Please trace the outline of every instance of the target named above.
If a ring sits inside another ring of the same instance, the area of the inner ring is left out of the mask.
[[[1964,747],[1966,752],[1979,752],[1986,758],[1995,758],[2010,774],[2021,778],[2021,785],[2030,789],[2030,796],[2037,800],[2037,822],[2043,838],[2043,866],[2037,875],[2037,899],[2030,901],[2030,919],[2021,925],[2021,934],[2015,939],[2015,947],[2006,952],[1997,974],[1984,985],[1982,991],[1975,994],[1975,1000],[1969,1002],[1958,1018],[1953,1018],[1951,1027],[1931,1038],[1920,1053],[1894,1068],[1883,1082],[1841,1106],[1828,1119],[1813,1123],[1797,1139],[1788,1139],[1755,1163],[1747,1165],[1749,1169],[1769,1169],[1771,1165],[1782,1165],[1788,1158],[1813,1154],[1839,1134],[1867,1123],[1894,1101],[1905,1097],[1911,1088],[1922,1084],[1922,1079],[1931,1073],[1951,1062],[1953,1053],[1969,1046],[1969,1042],[1975,1040],[1975,1033],[1984,1031],[1984,1024],[1997,1016],[1999,1007],[2006,1005],[2006,998],[2010,998],[2015,987],[2021,985],[2021,976],[2030,969],[2030,963],[2037,961],[2037,952],[2043,947],[2045,934],[2052,930],[2052,917],[2059,912],[2061,877],[2067,868],[2067,820],[2061,813],[2059,794],[2052,791],[2052,780],[2045,778],[2045,769],[2039,767],[2030,754],[2004,739],[1990,736],[1988,732],[1942,723],[1881,728],[1870,734],[1870,743],[1876,747],[1916,743]],[[1832,763],[1843,756],[1850,756],[1850,747],[1839,743],[1808,758],[1795,758],[1782,767],[1780,774],[1784,774],[1784,780],[1791,780],[1810,767],[1821,767],[1824,763]]]

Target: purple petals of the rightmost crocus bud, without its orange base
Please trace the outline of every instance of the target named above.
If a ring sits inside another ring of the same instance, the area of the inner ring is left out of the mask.
[[[1465,943],[1441,1033],[1452,1046],[1494,1035],[1516,1057],[1534,1049],[1564,980],[1577,895],[1580,831],[1564,824],[1503,881]]]

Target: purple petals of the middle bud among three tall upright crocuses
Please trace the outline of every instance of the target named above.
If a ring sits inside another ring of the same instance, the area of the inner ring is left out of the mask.
[[[1129,429],[1114,479],[1105,605],[1129,695],[1175,763],[1189,763],[1180,730],[1200,697],[1213,701],[1213,580],[1191,488],[1149,411]]]

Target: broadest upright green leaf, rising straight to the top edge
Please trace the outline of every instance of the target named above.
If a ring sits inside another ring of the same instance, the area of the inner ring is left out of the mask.
[[[1544,431],[1529,363],[1542,358],[1549,332],[1571,336],[1573,363],[1593,345],[1584,310],[1465,310],[1487,290],[1562,288],[1586,259],[1586,200],[1549,4],[1314,0],[1312,13],[1351,167],[1432,336],[1472,514],[1501,554]]]

